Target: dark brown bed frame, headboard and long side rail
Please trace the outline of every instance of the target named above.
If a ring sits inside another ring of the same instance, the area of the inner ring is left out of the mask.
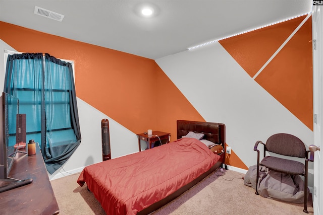
[[[182,138],[182,136],[186,135],[189,131],[194,131],[197,133],[204,133],[204,139],[214,142],[214,144],[222,144],[225,146],[226,142],[226,125],[222,123],[215,123],[215,122],[198,122],[198,121],[187,121],[187,120],[177,120],[177,138]],[[211,174],[213,171],[222,167],[224,163],[225,156],[221,156],[223,159],[219,160],[211,169],[209,169],[204,174],[200,175],[198,178],[190,182],[189,184],[183,186],[182,188],[178,189],[173,194],[169,195],[168,197],[155,202],[154,204],[150,205],[149,207],[139,211],[137,214],[148,214],[156,209],[164,206],[165,204],[169,203],[170,201],[174,200],[185,191],[193,187],[195,184],[200,182],[206,176]]]

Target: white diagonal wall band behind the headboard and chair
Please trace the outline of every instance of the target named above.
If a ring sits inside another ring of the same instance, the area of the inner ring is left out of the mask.
[[[313,144],[313,132],[253,81],[220,43],[156,63],[206,121],[226,124],[227,144],[247,167],[257,161],[255,142],[274,133],[291,133]]]

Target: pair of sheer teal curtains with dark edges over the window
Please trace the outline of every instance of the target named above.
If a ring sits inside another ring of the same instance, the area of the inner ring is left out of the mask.
[[[18,97],[27,140],[39,142],[52,174],[81,142],[72,64],[47,53],[9,55],[4,92]]]

